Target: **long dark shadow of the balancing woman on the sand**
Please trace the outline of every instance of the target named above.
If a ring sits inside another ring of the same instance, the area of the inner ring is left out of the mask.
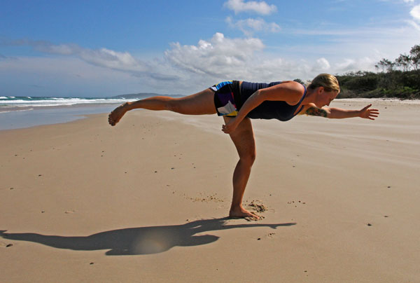
[[[172,247],[189,247],[209,244],[218,240],[215,235],[195,235],[214,230],[233,228],[293,226],[296,223],[280,224],[238,224],[228,225],[228,218],[204,219],[173,226],[151,226],[125,228],[93,234],[86,237],[64,237],[41,235],[36,233],[5,233],[0,230],[0,237],[8,240],[37,242],[58,249],[76,251],[94,251],[109,249],[106,255],[157,254]]]

